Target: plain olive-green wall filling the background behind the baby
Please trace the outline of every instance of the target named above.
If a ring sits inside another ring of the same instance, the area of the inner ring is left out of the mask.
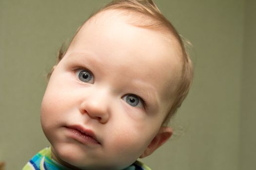
[[[48,146],[45,74],[62,42],[109,0],[0,0],[0,161],[20,170]],[[189,39],[195,79],[153,170],[255,170],[256,1],[156,0]],[[118,161],[118,160],[117,160]]]

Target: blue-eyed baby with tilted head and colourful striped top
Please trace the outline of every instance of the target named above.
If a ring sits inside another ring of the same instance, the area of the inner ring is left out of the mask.
[[[41,104],[51,146],[23,170],[150,170],[137,159],[172,136],[192,72],[152,0],[114,0],[59,53]]]

